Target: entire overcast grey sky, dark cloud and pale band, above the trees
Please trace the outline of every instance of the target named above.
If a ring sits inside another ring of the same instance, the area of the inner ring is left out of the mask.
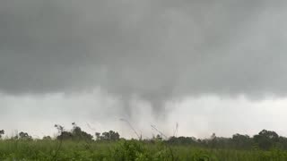
[[[2,0],[0,129],[286,134],[287,2]]]

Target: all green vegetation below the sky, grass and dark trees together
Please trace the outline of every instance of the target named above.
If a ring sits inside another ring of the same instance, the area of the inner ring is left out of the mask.
[[[232,138],[170,137],[150,140],[120,139],[117,131],[96,132],[95,137],[73,123],[71,131],[55,125],[56,138],[32,139],[27,132],[0,140],[0,160],[287,160],[287,138],[274,131],[257,135],[234,134]],[[3,136],[4,131],[0,131]]]

